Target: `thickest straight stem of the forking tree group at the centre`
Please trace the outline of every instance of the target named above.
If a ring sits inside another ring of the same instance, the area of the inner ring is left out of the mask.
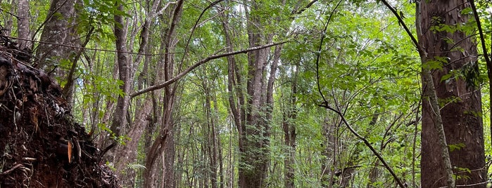
[[[261,43],[269,43],[272,36],[263,34],[263,25],[259,15],[251,13],[260,10],[258,2],[251,1],[251,9],[246,8],[247,32],[249,47],[260,46]],[[246,91],[246,121],[244,149],[239,159],[239,187],[265,187],[267,167],[270,159],[268,150],[270,130],[265,116],[267,104],[264,100],[265,93],[265,67],[270,48],[248,53],[248,76]]]

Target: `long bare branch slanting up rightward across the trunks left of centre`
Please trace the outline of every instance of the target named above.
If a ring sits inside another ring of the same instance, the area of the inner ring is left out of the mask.
[[[208,56],[207,58],[205,58],[205,59],[197,62],[195,65],[191,65],[191,67],[188,67],[187,69],[184,69],[183,72],[177,74],[172,79],[169,79],[167,81],[161,81],[160,83],[158,83],[158,84],[156,84],[154,86],[150,86],[149,88],[144,88],[144,89],[141,89],[141,90],[137,90],[135,93],[131,93],[130,94],[130,97],[131,98],[134,98],[134,97],[137,97],[138,95],[141,95],[141,94],[150,92],[152,90],[158,90],[160,88],[164,88],[165,86],[169,86],[171,83],[175,83],[176,81],[178,81],[179,79],[181,79],[183,76],[186,76],[189,72],[191,72],[196,67],[199,67],[200,65],[203,65],[206,62],[209,62],[210,60],[215,60],[215,59],[218,59],[218,58],[224,58],[224,57],[227,57],[229,55],[237,55],[237,54],[240,54],[240,53],[248,53],[250,51],[258,51],[258,50],[263,49],[263,48],[269,48],[269,47],[272,47],[272,46],[277,46],[277,45],[280,45],[280,44],[283,44],[283,43],[286,43],[286,42],[287,41],[282,41],[282,42],[279,42],[279,43],[269,43],[269,44],[266,44],[266,45],[263,45],[263,46],[256,46],[256,47],[253,47],[253,48],[246,48],[246,49],[241,50],[241,51],[233,51],[233,52],[229,52],[229,53],[222,53],[222,54],[219,54],[219,55],[211,55],[211,56]]]

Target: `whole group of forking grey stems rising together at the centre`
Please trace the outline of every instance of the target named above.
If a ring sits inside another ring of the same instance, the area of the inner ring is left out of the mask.
[[[282,5],[285,3],[286,1],[279,2]],[[270,23],[262,20],[260,13],[257,13],[263,6],[264,4],[256,1],[248,1],[248,6],[245,6],[249,47],[270,43],[273,39],[273,34],[265,33],[265,25]],[[234,36],[229,32],[229,17],[226,14],[220,14],[227,51],[231,52]],[[270,164],[268,145],[270,145],[270,121],[273,110],[273,83],[275,82],[275,72],[277,71],[281,49],[282,46],[276,48],[268,77],[265,68],[270,56],[270,48],[248,53],[248,73],[246,76],[241,74],[241,66],[236,65],[235,58],[233,56],[227,57],[229,106],[238,130],[239,187],[266,186],[267,168]],[[243,80],[246,81],[246,92],[243,90]]]

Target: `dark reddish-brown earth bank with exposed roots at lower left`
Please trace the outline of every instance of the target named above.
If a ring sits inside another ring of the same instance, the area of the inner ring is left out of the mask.
[[[0,36],[0,187],[120,187],[61,88]]]

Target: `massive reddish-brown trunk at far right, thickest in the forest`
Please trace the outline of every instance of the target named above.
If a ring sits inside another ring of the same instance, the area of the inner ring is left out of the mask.
[[[468,15],[460,11],[469,7],[465,0],[421,1],[420,45],[425,49],[422,55],[424,94],[435,86],[436,96],[441,101],[439,107],[432,105],[429,98],[422,104],[422,187],[443,187],[446,183],[446,168],[443,165],[439,148],[439,129],[434,126],[436,108],[440,108],[443,132],[450,153],[450,166],[456,175],[456,185],[486,182],[484,135],[481,119],[481,93],[473,80],[477,79],[477,45],[465,31],[446,31],[446,27],[462,28],[468,22]],[[458,27],[460,26],[460,27]],[[417,26],[418,27],[418,26]],[[442,63],[442,69],[434,69],[431,78],[425,79],[428,72],[425,66]],[[462,76],[441,81],[453,72]],[[430,91],[432,92],[432,91]],[[425,95],[424,95],[425,96]],[[430,101],[430,102],[429,102]],[[474,187],[486,187],[486,184]]]

